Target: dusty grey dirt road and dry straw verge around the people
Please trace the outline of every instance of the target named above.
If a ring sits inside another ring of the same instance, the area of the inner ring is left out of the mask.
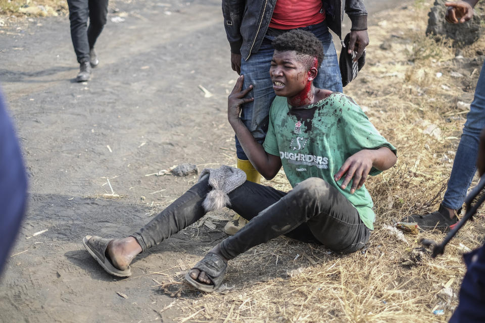
[[[399,144],[400,158],[404,158],[394,173],[377,177],[370,186],[376,194],[379,219],[367,253],[341,259],[316,246],[277,239],[232,262],[226,279],[229,287],[235,286],[232,292],[210,297],[178,282],[182,281],[181,272],[225,236],[222,219],[231,217],[229,211],[211,214],[209,220],[216,224],[215,230],[205,225],[193,226],[137,257],[132,264],[133,277],[127,280],[105,274],[84,250],[81,239],[86,234],[117,237],[137,230],[196,181],[193,176],[146,175],[181,163],[196,164],[199,170],[234,164],[234,139],[226,122],[225,104],[235,73],[230,70],[220,2],[180,4],[146,0],[112,4],[108,25],[97,46],[101,64],[94,70],[92,81],[86,84],[73,82],[78,66],[67,17],[19,19],[0,29],[3,62],[0,80],[18,128],[30,178],[29,211],[12,250],[14,256],[0,281],[0,321],[318,322],[325,317],[327,321],[377,322],[402,321],[408,317],[404,314],[411,315],[413,311],[431,315],[434,305],[428,304],[426,296],[423,294],[418,302],[411,302],[416,297],[411,297],[416,294],[412,286],[406,285],[411,280],[404,276],[395,279],[402,273],[391,272],[404,250],[409,251],[417,244],[416,240],[408,238],[396,251],[392,248],[399,244],[382,226],[410,211],[434,207],[432,203],[426,204],[432,196],[424,191],[432,187],[431,195],[439,192],[438,184],[447,177],[450,162],[438,163],[438,159],[456,149],[456,136],[459,137],[464,119],[463,114],[453,113],[450,107],[456,105],[453,93],[440,96],[443,101],[441,98],[426,101],[427,95],[437,96],[446,91],[440,90],[438,83],[438,89],[429,86],[423,77],[434,70],[426,70],[431,63],[423,60],[424,54],[419,49],[413,48],[413,42],[426,43],[422,37],[415,39],[412,35],[413,31],[422,31],[422,22],[401,26],[409,27],[406,34],[399,31],[399,26],[389,31],[392,17],[412,19],[417,10],[413,8],[402,7],[375,15],[369,31],[368,65],[360,78],[346,88],[346,92],[367,106],[371,120],[383,135]],[[423,16],[419,14],[420,19]],[[116,17],[124,21],[112,22]],[[382,42],[392,42],[393,49],[380,49]],[[471,56],[473,50],[469,49]],[[431,56],[437,55],[438,63],[451,60],[453,53],[451,49],[448,51]],[[413,55],[416,63],[409,63]],[[432,64],[438,64],[436,61]],[[460,95],[468,102],[477,78],[472,71],[476,68],[479,71],[481,61],[481,58],[475,63],[470,59],[466,64],[450,61],[440,67],[444,77],[457,66],[460,72],[468,73],[460,88]],[[407,88],[408,84],[413,86]],[[204,97],[199,85],[213,96]],[[403,94],[408,92],[415,94],[409,100]],[[429,105],[441,109],[437,116],[423,110]],[[404,108],[409,109],[409,114],[403,112]],[[450,122],[443,118],[447,111],[452,112],[447,115]],[[400,116],[402,124],[415,128],[406,126],[398,132],[393,124],[395,116]],[[443,137],[455,139],[431,138],[419,142],[421,137],[428,138],[422,129],[429,120],[439,120]],[[428,148],[421,149],[421,145]],[[421,165],[417,155],[421,156]],[[434,163],[433,160],[437,166],[423,170],[422,165]],[[417,173],[424,174],[420,180],[429,182],[428,186],[413,186],[413,181],[421,176]],[[120,198],[103,197],[112,193],[107,179]],[[273,185],[283,188],[286,184],[279,176]],[[391,192],[390,187],[398,191]],[[416,192],[422,195],[406,198]],[[479,228],[473,232],[483,232],[481,222],[474,226],[472,229]],[[48,231],[32,237],[43,230]],[[434,238],[439,240],[441,236]],[[462,241],[469,247],[479,244],[474,238]],[[409,277],[419,278],[412,284],[428,284],[426,292],[431,293],[439,291],[451,275],[456,276],[452,286],[457,292],[464,273],[459,256],[453,258],[453,263],[440,261],[426,264],[431,269],[425,274],[419,268],[409,272]],[[350,262],[370,269],[344,273]],[[372,270],[372,266],[377,268],[381,263],[391,268],[389,275]],[[449,276],[443,278],[441,272],[433,272],[432,266],[439,265],[444,265],[451,274],[447,272]],[[289,279],[287,273],[292,274],[298,268],[303,268],[306,276]],[[359,276],[369,280],[366,286],[373,290],[371,296],[366,296],[362,289],[359,296],[360,283],[355,281]],[[327,285],[324,279],[331,284]],[[315,294],[322,290],[322,282],[328,288],[327,294]],[[376,282],[384,282],[384,287]],[[162,288],[157,286],[160,284]],[[278,289],[278,285],[283,287]],[[331,288],[342,291],[344,285],[348,291],[344,293],[344,301],[340,296],[329,297],[337,294]],[[315,288],[309,292],[310,287]],[[396,292],[390,292],[390,288]],[[316,295],[319,298],[315,300]],[[351,302],[345,301],[346,295],[352,298]],[[397,301],[395,295],[402,300]],[[280,296],[284,302],[271,306],[264,303]],[[378,303],[372,307],[373,314],[366,311],[371,298]],[[304,305],[311,310],[315,308],[310,304],[316,304],[318,311],[328,316],[317,311],[306,313]],[[456,305],[456,299],[453,304]],[[299,309],[294,309],[295,306]],[[376,310],[384,314],[379,316]],[[425,316],[423,321],[431,321],[429,317],[433,316]],[[437,321],[446,318],[434,317]]]

